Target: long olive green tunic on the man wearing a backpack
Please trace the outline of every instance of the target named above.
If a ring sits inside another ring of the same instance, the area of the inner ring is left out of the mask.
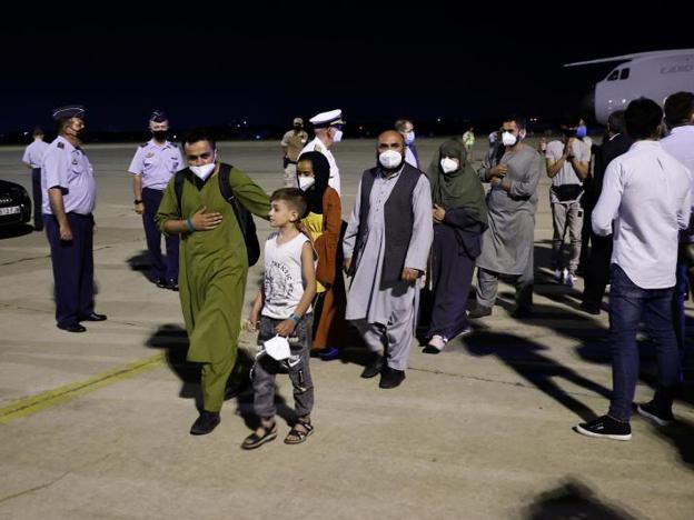
[[[181,234],[179,256],[180,302],[190,341],[188,360],[200,363],[234,364],[240,331],[248,258],[234,209],[221,196],[218,173],[205,183],[184,182],[182,211],[179,211],[174,178],[163,192],[157,226],[163,231],[168,220],[188,219],[202,207],[224,216],[209,231]],[[237,168],[229,183],[238,201],[251,213],[267,219],[269,198],[265,190]]]

